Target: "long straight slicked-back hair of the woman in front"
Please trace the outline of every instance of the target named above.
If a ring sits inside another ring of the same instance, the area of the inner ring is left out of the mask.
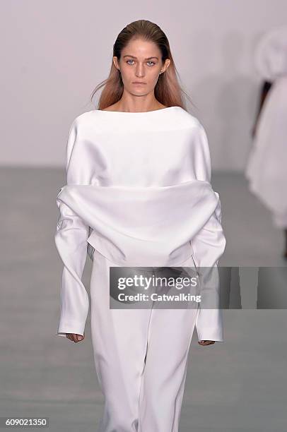
[[[177,79],[177,68],[175,67],[175,62],[172,59],[172,54],[170,52],[170,44],[168,42],[168,37],[166,37],[163,30],[155,24],[148,20],[137,20],[133,23],[128,24],[125,28],[119,32],[117,40],[113,45],[113,56],[117,56],[119,61],[122,49],[127,46],[131,39],[143,39],[154,42],[157,44],[160,52],[162,54],[162,61],[165,59],[170,59],[170,65],[164,73],[161,73],[158,77],[158,82],[155,87],[155,97],[161,103],[168,107],[178,106],[183,109],[187,109],[182,95],[184,94],[189,102],[190,97],[187,93],[182,90]],[[108,78],[93,90],[90,97],[91,102],[93,102],[93,96],[95,92],[103,88],[100,99],[98,102],[98,109],[105,109],[110,107],[110,105],[115,104],[122,97],[124,91],[124,85],[122,83],[122,76],[119,70],[115,67],[112,61],[112,66],[110,68],[110,75]]]

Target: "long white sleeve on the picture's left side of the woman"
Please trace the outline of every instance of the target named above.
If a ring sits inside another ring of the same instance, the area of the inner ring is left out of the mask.
[[[75,120],[71,125],[66,145],[67,184],[81,184],[84,181],[81,164],[77,163],[74,151],[75,144],[78,145],[79,140]],[[54,240],[64,263],[61,277],[61,313],[57,335],[66,336],[66,333],[83,335],[89,308],[88,293],[81,281],[87,256],[88,227],[81,217],[61,200],[57,200],[57,207],[59,217]]]

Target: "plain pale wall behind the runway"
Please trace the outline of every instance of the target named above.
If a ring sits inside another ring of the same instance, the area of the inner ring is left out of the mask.
[[[9,0],[0,13],[1,165],[64,167],[69,127],[94,109],[117,34],[148,19],[170,40],[213,169],[244,169],[261,83],[254,47],[286,24],[286,0]]]

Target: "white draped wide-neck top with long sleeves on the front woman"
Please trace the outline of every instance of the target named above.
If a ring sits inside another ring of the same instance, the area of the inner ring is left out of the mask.
[[[181,107],[93,110],[76,117],[66,145],[66,185],[57,195],[55,242],[64,270],[57,335],[83,335],[88,251],[121,266],[217,268],[225,249],[209,143]],[[92,253],[89,253],[93,258]],[[218,284],[209,289],[218,295]],[[199,311],[199,340],[223,341],[220,309]]]

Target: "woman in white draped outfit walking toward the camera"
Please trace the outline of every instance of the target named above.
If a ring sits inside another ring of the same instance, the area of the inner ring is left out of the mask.
[[[64,263],[57,335],[84,338],[88,246],[91,336],[105,396],[98,432],[177,432],[194,328],[203,346],[223,342],[222,311],[110,308],[110,267],[218,272],[221,202],[204,127],[183,107],[164,32],[147,20],[131,23],[113,54],[98,109],[76,117],[66,146],[55,235]],[[218,279],[206,281],[218,304]]]

